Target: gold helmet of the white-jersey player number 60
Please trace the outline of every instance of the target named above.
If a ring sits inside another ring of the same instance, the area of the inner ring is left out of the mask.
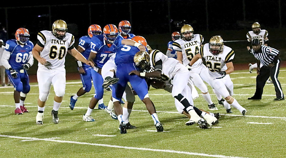
[[[63,38],[65,38],[65,35],[67,34],[67,23],[65,23],[65,21],[63,20],[56,20],[53,23],[52,32],[53,35],[57,37],[57,39],[62,40]]]

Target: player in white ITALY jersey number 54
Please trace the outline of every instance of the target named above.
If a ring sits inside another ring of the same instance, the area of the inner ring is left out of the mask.
[[[204,38],[199,34],[194,35],[194,29],[191,25],[184,25],[181,28],[181,37],[182,39],[177,39],[174,41],[172,47],[174,50],[176,50],[178,56],[177,60],[187,67],[192,58],[199,53],[199,49],[204,41]],[[210,78],[206,67],[202,64],[202,59],[199,59],[196,63],[194,63],[192,67],[193,68],[189,73],[191,81],[196,87],[198,87],[198,89],[200,89],[202,97],[208,103],[208,109],[217,110],[217,107],[210,98],[208,88],[204,84],[204,81],[209,84]],[[219,95],[219,93],[216,94]],[[219,95],[218,100],[221,99],[221,95]],[[221,100],[221,102],[223,102],[223,100]]]

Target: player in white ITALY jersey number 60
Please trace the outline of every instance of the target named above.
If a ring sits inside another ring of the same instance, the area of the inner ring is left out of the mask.
[[[38,113],[36,123],[43,124],[45,102],[49,95],[51,84],[55,91],[53,110],[51,115],[53,123],[59,122],[58,110],[65,94],[65,56],[70,53],[79,61],[94,66],[91,61],[76,50],[74,36],[67,33],[67,24],[63,20],[53,23],[52,31],[40,31],[37,35],[38,42],[32,54],[39,62],[37,80],[39,83]]]

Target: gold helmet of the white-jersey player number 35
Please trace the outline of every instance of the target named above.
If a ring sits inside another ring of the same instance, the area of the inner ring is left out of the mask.
[[[221,36],[213,36],[210,38],[210,43],[208,45],[210,53],[217,56],[223,51],[223,38]]]

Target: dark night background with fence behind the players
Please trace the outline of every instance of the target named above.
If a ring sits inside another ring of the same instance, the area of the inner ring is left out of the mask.
[[[7,2],[7,1],[6,1]],[[142,35],[153,49],[163,53],[171,40],[171,33],[179,31],[182,25],[190,24],[195,34],[201,34],[207,42],[213,35],[221,35],[225,45],[236,52],[234,63],[254,62],[247,54],[246,33],[254,22],[269,32],[269,46],[281,51],[285,60],[286,2],[273,1],[218,1],[218,0],[162,0],[162,1],[90,1],[81,3],[27,2],[0,5],[0,28],[7,27],[9,39],[14,39],[15,31],[25,27],[30,32],[30,40],[35,44],[37,33],[51,30],[51,24],[62,19],[68,24],[68,32],[78,39],[87,35],[91,24],[102,28],[107,24],[130,21],[131,33]],[[233,40],[245,40],[229,42]],[[72,60],[70,55],[67,61]],[[37,61],[35,61],[37,64]],[[76,71],[74,62],[66,62],[67,72]],[[36,66],[33,66],[37,69]],[[34,70],[35,70],[34,69]],[[34,70],[31,73],[35,73]]]

